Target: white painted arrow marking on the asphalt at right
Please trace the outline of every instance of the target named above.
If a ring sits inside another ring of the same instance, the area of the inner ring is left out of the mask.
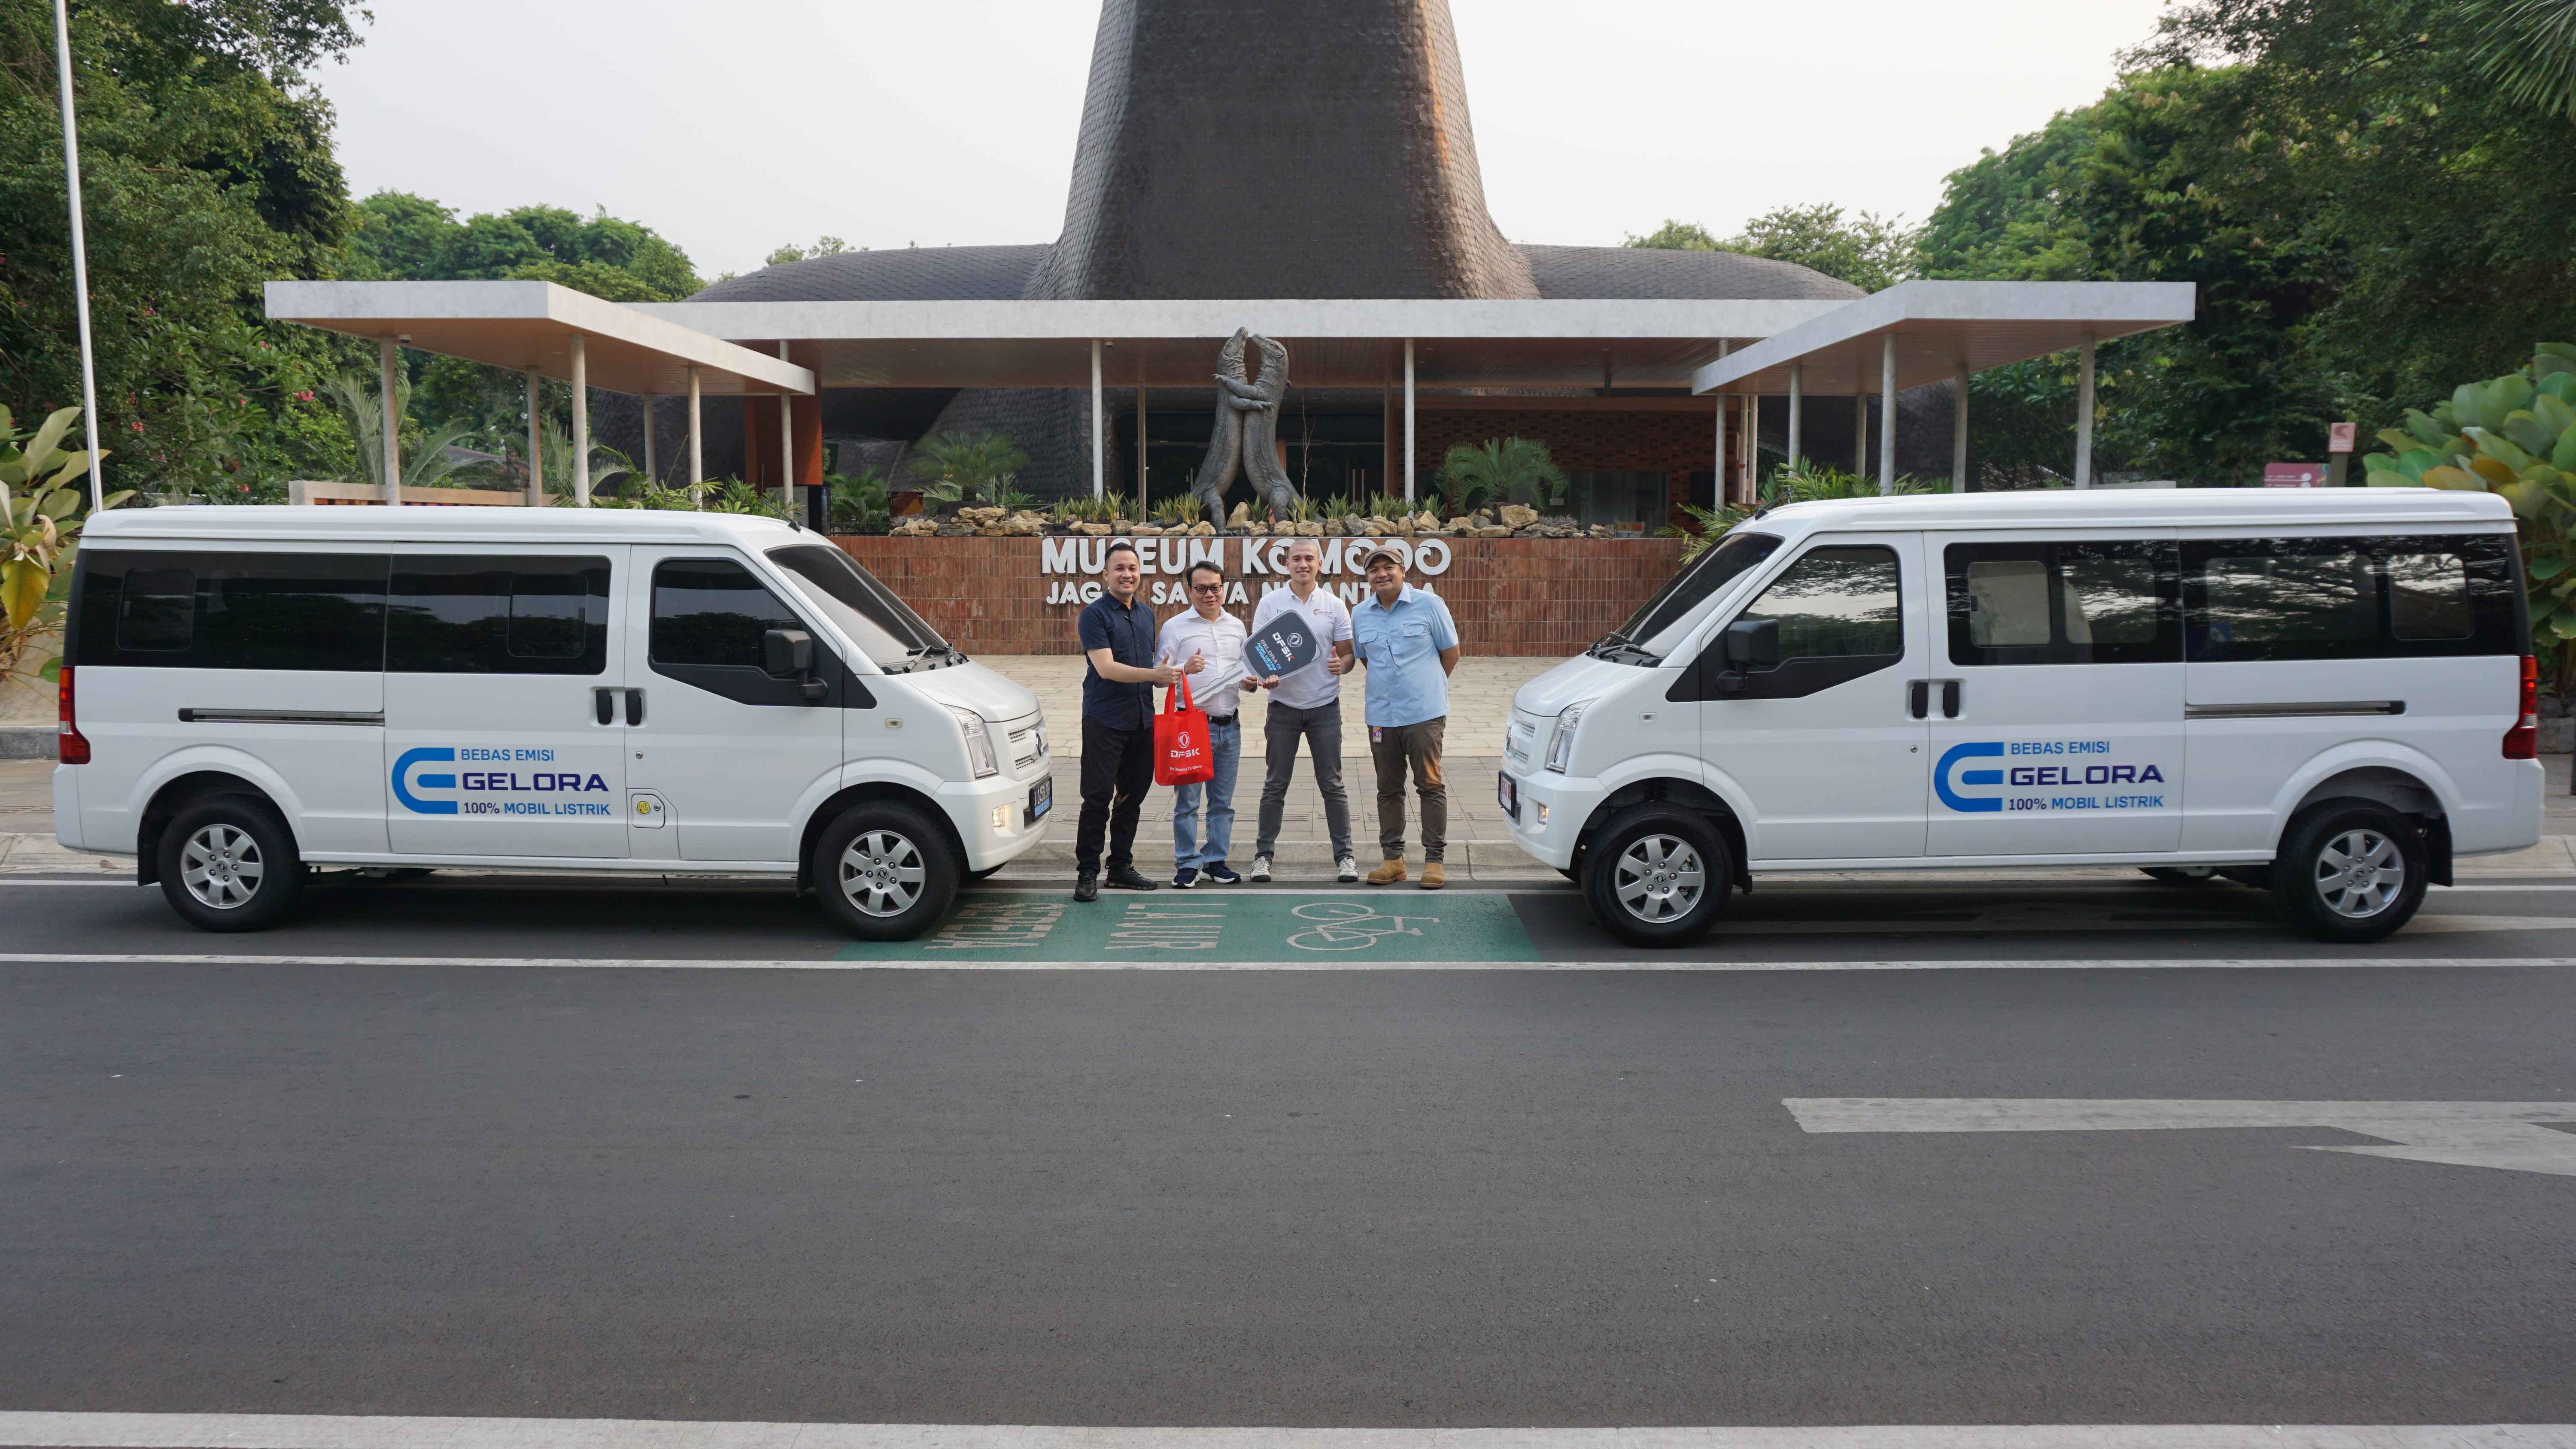
[[[2303,1148],[2470,1168],[2576,1176],[2576,1102],[2202,1102],[2081,1096],[1785,1096],[1808,1132],[2172,1132],[2336,1127],[2393,1148]]]

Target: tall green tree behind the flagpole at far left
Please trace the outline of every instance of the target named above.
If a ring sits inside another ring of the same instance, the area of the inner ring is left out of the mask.
[[[260,283],[335,275],[348,201],[309,69],[325,0],[88,0],[72,18],[98,422],[118,486],[237,497],[343,458],[312,396],[348,347],[265,324]],[[52,5],[0,0],[0,396],[80,401]]]

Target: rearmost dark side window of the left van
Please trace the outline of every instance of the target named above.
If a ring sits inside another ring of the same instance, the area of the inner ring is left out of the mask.
[[[75,664],[384,669],[384,553],[85,548]]]

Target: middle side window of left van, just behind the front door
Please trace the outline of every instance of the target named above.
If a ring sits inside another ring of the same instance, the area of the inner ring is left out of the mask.
[[[397,556],[384,656],[394,674],[600,674],[608,558]]]

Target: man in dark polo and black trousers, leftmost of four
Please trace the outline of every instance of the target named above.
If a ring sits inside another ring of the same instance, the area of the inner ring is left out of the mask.
[[[1074,829],[1074,901],[1100,898],[1100,836],[1108,834],[1110,885],[1151,891],[1136,872],[1136,813],[1154,788],[1154,685],[1172,685],[1203,661],[1154,664],[1154,610],[1136,600],[1144,569],[1136,546],[1110,543],[1103,595],[1082,607],[1082,824]]]

